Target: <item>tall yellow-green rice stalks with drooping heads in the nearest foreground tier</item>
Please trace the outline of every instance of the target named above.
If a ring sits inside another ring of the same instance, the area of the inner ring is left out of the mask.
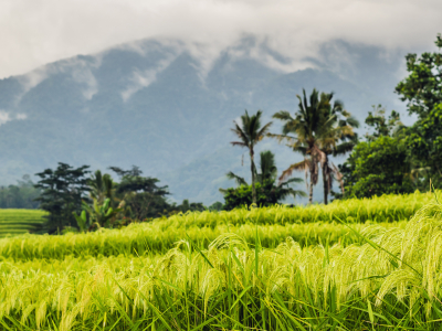
[[[354,231],[355,225],[348,229]],[[256,229],[255,229],[256,231]],[[0,264],[4,330],[438,330],[442,207],[364,245],[274,249],[225,233],[162,256]]]

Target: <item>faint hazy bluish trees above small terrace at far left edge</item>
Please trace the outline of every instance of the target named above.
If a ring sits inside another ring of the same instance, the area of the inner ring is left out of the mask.
[[[40,203],[35,199],[40,193],[25,174],[15,185],[0,186],[0,209],[38,209]]]

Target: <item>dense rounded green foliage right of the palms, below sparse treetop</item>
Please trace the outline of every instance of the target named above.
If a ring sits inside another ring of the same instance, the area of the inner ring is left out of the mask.
[[[388,136],[359,142],[340,172],[345,182],[344,197],[402,194],[415,189],[407,146]]]

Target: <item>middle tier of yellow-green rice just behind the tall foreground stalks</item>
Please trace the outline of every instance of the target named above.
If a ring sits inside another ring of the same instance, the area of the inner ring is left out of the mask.
[[[379,223],[380,227],[404,227],[407,222]],[[369,226],[355,224],[358,231]],[[220,224],[214,227],[198,226],[168,226],[161,222],[131,224],[122,229],[101,229],[95,233],[74,234],[63,236],[22,235],[0,239],[0,256],[13,259],[52,258],[63,259],[66,256],[145,256],[165,254],[176,246],[176,243],[186,238],[192,239],[201,249],[225,233],[241,236],[252,247],[256,244],[256,232],[261,245],[275,248],[287,237],[292,237],[302,247],[309,245],[329,245],[340,243],[343,246],[364,243],[346,226],[336,223],[307,223],[307,224],[273,224],[241,225]]]

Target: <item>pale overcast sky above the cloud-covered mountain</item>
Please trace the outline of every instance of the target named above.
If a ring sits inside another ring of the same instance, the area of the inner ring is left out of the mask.
[[[252,33],[293,58],[334,39],[428,50],[441,14],[441,0],[0,0],[0,78],[152,36],[217,51]]]

